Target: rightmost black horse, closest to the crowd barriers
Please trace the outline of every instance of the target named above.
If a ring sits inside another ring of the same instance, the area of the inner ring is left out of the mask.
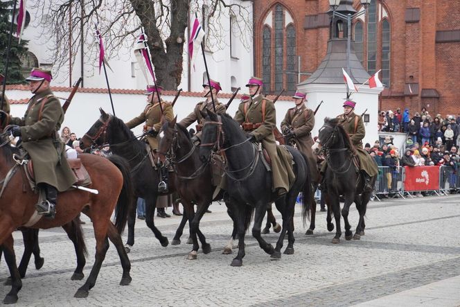
[[[353,163],[353,157],[356,155],[355,148],[342,125],[339,125],[338,119],[324,119],[324,125],[319,129],[317,143],[313,146],[317,152],[319,152],[319,147],[324,152],[328,163],[324,176],[326,176],[328,207],[330,207],[336,223],[333,243],[339,243],[340,236],[342,236],[340,195],[345,200],[344,208],[342,209],[342,216],[345,222],[345,239],[360,240],[364,234],[364,216],[366,215],[367,203],[371,199],[372,192],[364,191],[364,180],[360,178]],[[371,177],[372,186],[375,185],[375,179],[375,176]],[[353,231],[350,230],[351,225],[348,222],[348,211],[353,201],[356,204],[357,211],[360,213],[360,221],[357,224],[354,236]],[[330,216],[328,214],[328,228],[329,225]]]

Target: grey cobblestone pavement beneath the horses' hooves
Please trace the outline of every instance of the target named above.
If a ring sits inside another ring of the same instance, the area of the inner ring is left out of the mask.
[[[62,229],[41,231],[44,267],[35,270],[29,265],[17,306],[460,305],[460,196],[371,202],[366,235],[346,241],[342,234],[338,245],[331,243],[333,233],[327,231],[322,212],[317,214],[315,235],[305,236],[299,207],[295,254],[271,261],[249,231],[242,267],[229,265],[236,250],[233,256],[222,254],[232,227],[225,206],[215,203],[210,209],[213,213],[204,216],[201,229],[213,247],[211,254],[200,250],[197,260],[188,261],[191,245],[185,244],[186,235],[181,245],[161,247],[145,222],[137,220],[136,243],[129,254],[132,283],[118,286],[121,265],[111,245],[87,299],[73,298],[84,281],[70,280],[76,257],[67,236]],[[354,208],[350,218],[355,227]],[[89,249],[86,278],[94,262],[94,237],[91,222],[84,220]],[[172,240],[179,217],[155,222]],[[125,237],[126,232],[124,241]],[[265,235],[272,244],[277,237]],[[21,234],[15,233],[15,239],[19,258]],[[6,277],[2,261],[0,282]],[[0,297],[8,290],[0,288]]]

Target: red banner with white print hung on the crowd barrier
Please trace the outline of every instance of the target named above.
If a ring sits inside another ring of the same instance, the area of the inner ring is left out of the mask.
[[[439,166],[405,166],[405,191],[439,190]]]

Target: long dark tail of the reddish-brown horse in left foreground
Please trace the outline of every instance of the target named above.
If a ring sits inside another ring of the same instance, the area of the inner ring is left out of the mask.
[[[115,164],[123,175],[123,187],[121,188],[115,207],[115,227],[118,233],[121,234],[126,226],[128,212],[132,209],[134,186],[132,184],[130,165],[127,161],[123,157],[117,155],[109,156],[108,159]]]

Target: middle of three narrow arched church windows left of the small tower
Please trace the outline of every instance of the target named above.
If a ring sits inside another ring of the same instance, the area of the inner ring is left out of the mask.
[[[283,89],[284,62],[284,10],[283,6],[275,8],[275,91]]]

